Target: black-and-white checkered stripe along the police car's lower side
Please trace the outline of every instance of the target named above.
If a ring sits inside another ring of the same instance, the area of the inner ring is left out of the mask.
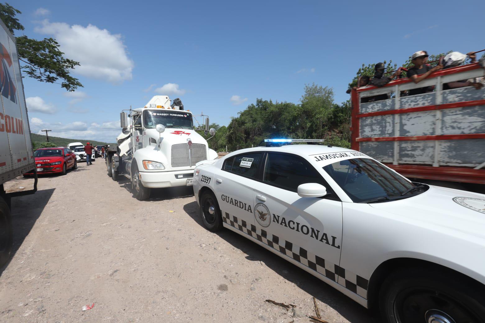
[[[255,225],[247,224],[246,221],[241,220],[234,215],[229,215],[227,212],[222,219],[231,227],[242,231],[255,239],[258,239],[263,244],[278,250],[288,257],[304,264],[308,268],[315,270],[319,274],[332,279],[351,292],[355,292],[359,296],[367,298],[367,285],[369,284],[367,279],[345,270],[344,268],[339,267],[339,265],[336,265],[317,255],[314,255],[304,248],[296,246],[290,241],[280,239],[279,237],[268,233],[265,230],[256,229]]]

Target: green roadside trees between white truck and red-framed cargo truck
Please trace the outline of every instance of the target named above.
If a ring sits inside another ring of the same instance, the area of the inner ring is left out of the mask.
[[[299,103],[258,98],[227,126],[210,127],[217,132],[209,147],[217,152],[258,146],[265,138],[325,139],[350,148],[350,101],[336,104],[332,88],[307,84]]]

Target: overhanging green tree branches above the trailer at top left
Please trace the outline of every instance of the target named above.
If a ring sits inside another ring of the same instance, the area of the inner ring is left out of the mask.
[[[24,30],[16,18],[17,14],[21,12],[8,3],[0,3],[0,18],[12,34]],[[70,75],[70,70],[79,66],[79,62],[65,58],[55,39],[35,40],[23,35],[16,37],[16,44],[18,58],[24,63],[20,66],[24,74],[40,82],[60,84],[70,92],[82,87],[81,82]]]

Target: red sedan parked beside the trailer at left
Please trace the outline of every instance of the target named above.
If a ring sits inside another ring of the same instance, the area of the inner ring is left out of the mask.
[[[77,169],[76,155],[65,147],[40,148],[33,153],[38,174],[65,175],[67,169]],[[25,173],[24,176],[32,175],[33,172]]]

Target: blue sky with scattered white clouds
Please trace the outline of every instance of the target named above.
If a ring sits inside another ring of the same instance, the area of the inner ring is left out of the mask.
[[[306,83],[347,84],[362,63],[485,48],[484,1],[11,1],[23,33],[54,37],[84,88],[24,78],[32,132],[113,141],[121,109],[156,94],[227,125],[256,98],[297,103]],[[410,8],[404,11],[404,7]],[[22,34],[16,32],[16,35]]]

